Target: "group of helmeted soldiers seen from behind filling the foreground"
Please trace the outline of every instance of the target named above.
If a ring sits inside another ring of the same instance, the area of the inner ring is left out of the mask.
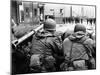
[[[28,44],[30,45],[30,43]],[[28,55],[22,56],[22,54],[16,53],[19,51],[13,54],[12,73],[95,69],[95,44],[95,35],[87,33],[84,25],[76,24],[73,31],[66,30],[59,34],[56,32],[56,22],[53,19],[47,19],[44,22],[43,30],[33,35],[30,48],[27,48]]]

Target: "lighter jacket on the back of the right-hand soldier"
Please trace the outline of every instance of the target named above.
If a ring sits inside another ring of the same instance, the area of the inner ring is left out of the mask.
[[[85,33],[81,31],[70,35],[68,38],[64,40],[63,49],[64,54],[66,55],[66,59],[69,57],[71,57],[72,60],[89,59],[85,47],[82,44],[80,44],[80,42],[84,42],[84,44],[87,44],[90,48],[92,48],[93,40],[85,36]],[[71,49],[72,53],[70,55]]]

